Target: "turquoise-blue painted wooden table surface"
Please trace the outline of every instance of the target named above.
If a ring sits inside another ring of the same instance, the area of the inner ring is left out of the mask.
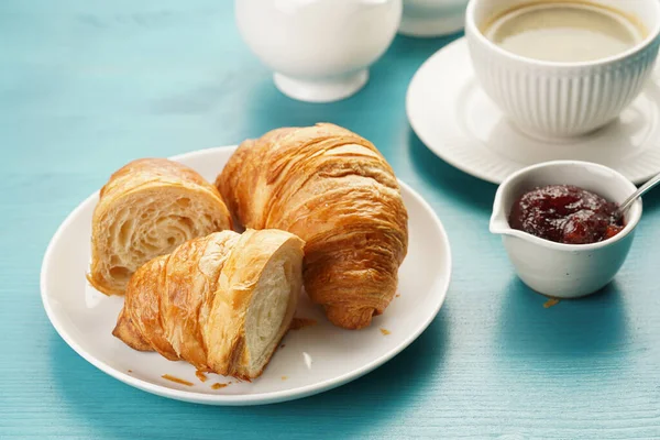
[[[397,37],[359,95],[308,105],[275,89],[231,3],[0,2],[0,438],[660,438],[660,190],[616,282],[544,308],[487,232],[495,186],[406,119],[413,74],[452,38]],[[229,408],[131,388],[57,336],[42,256],[112,170],[317,121],[372,140],[450,235],[447,302],[406,351],[322,395]]]

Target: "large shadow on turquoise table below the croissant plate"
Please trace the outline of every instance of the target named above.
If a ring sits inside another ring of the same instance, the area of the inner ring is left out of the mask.
[[[163,436],[226,438],[274,432],[327,435],[342,428],[366,433],[402,417],[419,398],[429,377],[443,369],[448,340],[442,314],[408,346],[374,372],[317,396],[252,407],[211,407],[157,397],[129,387],[87,364],[55,333],[51,340],[53,386],[77,425],[94,437]],[[346,432],[345,430],[350,430]]]

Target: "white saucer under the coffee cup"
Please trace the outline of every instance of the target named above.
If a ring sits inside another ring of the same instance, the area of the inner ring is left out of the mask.
[[[578,160],[609,166],[640,184],[660,172],[660,87],[656,75],[618,120],[588,135],[547,141],[508,122],[479,87],[462,37],[415,74],[406,98],[408,120],[439,157],[495,184],[547,161]]]

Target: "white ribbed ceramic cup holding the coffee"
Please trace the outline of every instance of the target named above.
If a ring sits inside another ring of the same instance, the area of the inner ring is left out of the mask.
[[[612,120],[641,92],[660,44],[660,1],[591,0],[630,13],[648,30],[644,41],[607,58],[554,63],[508,52],[480,30],[488,19],[530,0],[471,0],[465,35],[476,77],[521,131],[538,138],[586,134]]]

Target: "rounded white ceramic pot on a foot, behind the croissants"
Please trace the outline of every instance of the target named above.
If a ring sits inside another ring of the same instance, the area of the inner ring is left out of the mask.
[[[277,88],[309,102],[350,97],[389,47],[402,0],[235,0],[239,31]]]

